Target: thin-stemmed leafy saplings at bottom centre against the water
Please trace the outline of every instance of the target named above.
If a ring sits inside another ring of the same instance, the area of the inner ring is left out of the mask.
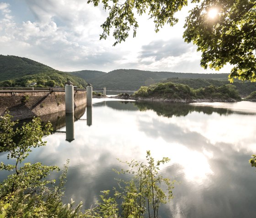
[[[169,178],[163,178],[158,175],[161,164],[169,162],[167,157],[155,162],[150,151],[146,155],[147,164],[132,160],[125,162],[130,167],[128,170],[121,170],[117,173],[129,173],[134,175],[131,181],[118,180],[118,185],[121,191],[117,191],[115,195],[122,198],[122,215],[123,217],[139,218],[145,217],[146,214],[150,217],[158,217],[158,210],[161,204],[167,203],[172,198],[172,189],[174,182]],[[120,161],[121,162],[121,161]],[[167,194],[160,188],[163,185],[166,187]]]

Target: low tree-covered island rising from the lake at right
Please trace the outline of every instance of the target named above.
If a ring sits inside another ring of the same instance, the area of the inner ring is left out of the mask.
[[[219,87],[210,85],[205,88],[193,89],[187,85],[172,82],[156,83],[149,87],[141,86],[138,91],[134,92],[133,97],[164,98],[175,101],[185,100],[188,102],[198,99],[219,101],[230,101],[231,99],[236,101],[241,100],[235,86],[231,84]]]

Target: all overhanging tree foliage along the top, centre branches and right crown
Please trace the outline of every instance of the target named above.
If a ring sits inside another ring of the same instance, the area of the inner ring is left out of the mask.
[[[97,6],[100,0],[88,0]],[[256,81],[256,2],[255,0],[191,0],[199,3],[186,19],[184,39],[197,45],[202,52],[201,66],[219,70],[225,64],[234,65],[229,75],[240,80]],[[134,10],[139,15],[148,13],[155,23],[155,31],[165,25],[175,25],[174,15],[187,5],[187,0],[102,0],[103,9],[109,11],[101,25],[100,39],[106,39],[114,28],[117,43],[125,41],[133,28],[133,37],[139,27]],[[213,18],[208,13],[215,10]]]

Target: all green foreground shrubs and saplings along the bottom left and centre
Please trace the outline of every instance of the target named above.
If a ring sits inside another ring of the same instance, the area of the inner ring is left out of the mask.
[[[0,152],[6,152],[7,158],[13,160],[13,164],[1,162],[0,170],[14,172],[0,183],[0,218],[157,218],[160,205],[172,198],[174,182],[158,175],[160,165],[170,159],[164,157],[155,162],[147,151],[146,163],[123,162],[128,170],[116,172],[133,177],[130,181],[118,179],[112,196],[109,190],[102,191],[100,200],[84,212],[81,212],[82,203],[74,207],[72,199],[69,204],[63,204],[61,197],[69,160],[59,177],[59,185],[55,185],[54,179],[47,179],[59,167],[24,163],[32,148],[46,145],[42,137],[50,134],[52,125],[42,127],[40,119],[34,118],[17,127],[18,122],[11,121],[9,114],[0,118]]]

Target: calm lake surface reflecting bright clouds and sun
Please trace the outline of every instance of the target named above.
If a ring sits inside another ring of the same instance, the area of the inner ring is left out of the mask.
[[[48,145],[28,158],[59,166],[70,159],[65,202],[90,207],[101,190],[117,185],[112,168],[123,167],[117,158],[144,161],[150,150],[156,160],[171,158],[161,173],[178,182],[175,197],[160,208],[162,218],[255,217],[256,168],[248,160],[256,153],[256,103],[94,99],[91,111],[78,114],[74,125],[73,117],[59,116]]]

